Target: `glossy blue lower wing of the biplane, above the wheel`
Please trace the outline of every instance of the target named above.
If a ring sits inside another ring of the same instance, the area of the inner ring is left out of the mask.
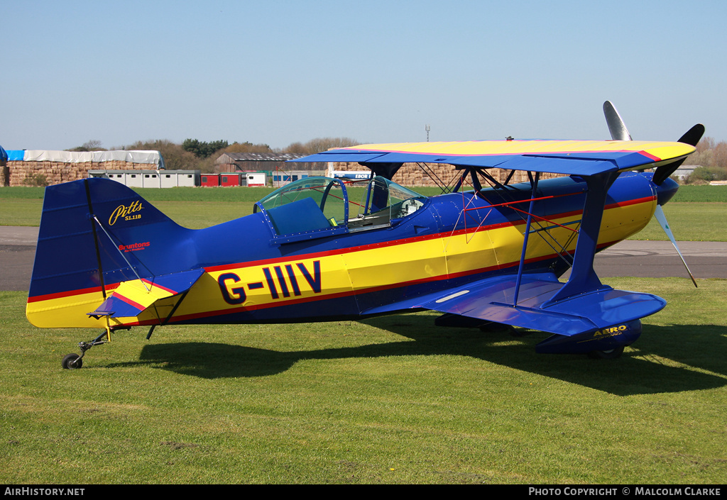
[[[419,307],[506,325],[574,336],[656,313],[661,297],[610,286],[547,304],[563,283],[553,274],[523,275],[518,304],[513,305],[516,277],[488,278]],[[544,307],[545,306],[545,307]]]

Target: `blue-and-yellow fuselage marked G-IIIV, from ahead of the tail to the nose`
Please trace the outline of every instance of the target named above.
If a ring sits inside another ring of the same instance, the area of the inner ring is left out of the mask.
[[[525,258],[527,272],[561,275],[569,268],[582,216],[585,184],[571,177],[542,181]],[[174,320],[260,323],[358,318],[398,310],[408,299],[519,265],[530,186],[429,198],[397,225],[271,244],[273,227],[252,214],[193,238],[209,278],[190,292]],[[509,203],[504,205],[503,203]],[[609,191],[599,248],[643,229],[654,214],[648,175],[625,174]],[[224,242],[224,243],[222,243]]]

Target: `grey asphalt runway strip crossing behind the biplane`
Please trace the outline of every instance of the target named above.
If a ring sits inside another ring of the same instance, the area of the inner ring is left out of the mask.
[[[38,227],[0,226],[0,290],[28,291],[37,240]],[[727,242],[678,244],[694,278],[727,278]],[[597,254],[594,267],[600,278],[688,278],[669,241],[622,241]]]

